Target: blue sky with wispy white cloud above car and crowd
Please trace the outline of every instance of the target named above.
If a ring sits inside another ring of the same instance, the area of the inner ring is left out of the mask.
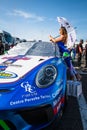
[[[0,0],[0,30],[14,37],[49,41],[59,34],[57,17],[76,28],[78,41],[87,39],[86,0]]]

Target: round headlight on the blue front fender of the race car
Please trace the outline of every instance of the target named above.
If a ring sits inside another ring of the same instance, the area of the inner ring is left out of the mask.
[[[45,88],[51,85],[57,77],[57,69],[53,65],[43,67],[36,76],[36,85]]]

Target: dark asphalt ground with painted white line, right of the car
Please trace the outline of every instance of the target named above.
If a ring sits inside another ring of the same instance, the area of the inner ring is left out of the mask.
[[[54,123],[52,130],[87,130],[87,68],[84,66],[82,62],[81,67],[77,67],[77,61],[74,61],[74,67],[82,76],[82,97],[79,97],[80,99],[74,96],[68,97],[65,112],[61,120]]]

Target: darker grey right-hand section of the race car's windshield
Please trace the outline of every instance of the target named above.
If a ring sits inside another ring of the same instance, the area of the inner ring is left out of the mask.
[[[52,44],[50,42],[37,42],[27,51],[26,55],[54,56],[55,44]],[[58,48],[56,48],[56,55],[59,55]]]

